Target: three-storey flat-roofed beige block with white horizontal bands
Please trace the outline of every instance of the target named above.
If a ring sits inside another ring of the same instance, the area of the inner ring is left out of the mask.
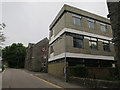
[[[64,5],[51,23],[48,73],[61,77],[64,67],[115,67],[110,20]]]

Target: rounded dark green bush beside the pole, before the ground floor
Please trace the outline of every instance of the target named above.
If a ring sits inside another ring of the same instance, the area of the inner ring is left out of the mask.
[[[88,75],[86,67],[79,66],[79,65],[71,66],[70,73],[73,76],[78,76],[78,77],[83,77],[83,78],[86,78]]]

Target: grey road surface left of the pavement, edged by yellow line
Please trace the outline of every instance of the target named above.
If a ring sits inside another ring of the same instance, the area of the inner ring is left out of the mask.
[[[6,69],[2,74],[2,88],[60,88],[20,69]]]

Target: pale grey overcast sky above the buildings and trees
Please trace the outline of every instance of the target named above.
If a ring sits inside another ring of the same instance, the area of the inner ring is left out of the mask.
[[[37,43],[49,38],[49,25],[64,4],[107,17],[106,0],[102,2],[2,2],[0,15],[6,24],[5,45]],[[2,12],[1,12],[2,11]],[[1,18],[0,18],[1,21]]]

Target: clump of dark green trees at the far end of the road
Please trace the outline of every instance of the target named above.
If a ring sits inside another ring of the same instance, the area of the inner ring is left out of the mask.
[[[23,68],[25,62],[26,47],[21,43],[13,43],[2,50],[2,59],[4,63],[11,68]]]

